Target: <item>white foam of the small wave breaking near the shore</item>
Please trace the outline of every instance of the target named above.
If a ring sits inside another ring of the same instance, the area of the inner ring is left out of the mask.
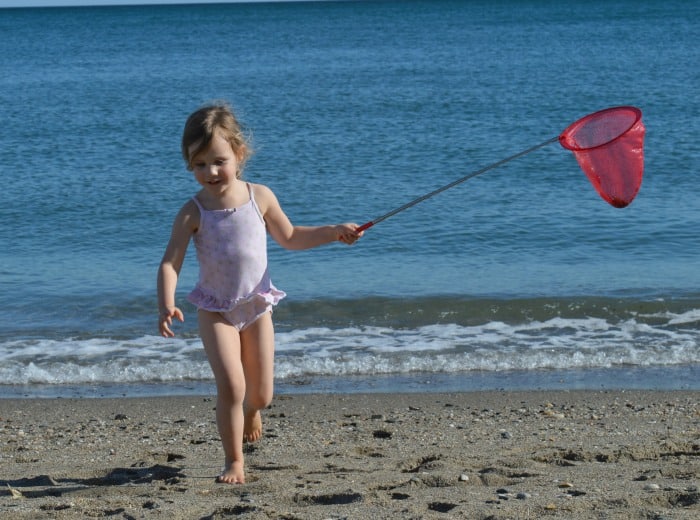
[[[683,318],[683,323],[692,316]],[[630,319],[553,318],[509,325],[307,328],[277,333],[276,376],[458,373],[700,364],[700,331]],[[143,336],[0,344],[5,384],[211,379],[198,338]]]

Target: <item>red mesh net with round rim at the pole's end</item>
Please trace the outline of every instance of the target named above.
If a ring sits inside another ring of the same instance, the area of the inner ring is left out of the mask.
[[[637,195],[644,173],[644,124],[635,107],[615,107],[589,114],[562,132],[598,194],[616,208]]]

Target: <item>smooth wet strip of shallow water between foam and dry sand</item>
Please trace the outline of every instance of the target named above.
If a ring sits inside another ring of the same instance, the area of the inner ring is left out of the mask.
[[[448,393],[480,391],[647,390],[700,391],[700,365],[570,369],[473,370],[277,378],[278,394]],[[213,378],[197,381],[5,384],[2,399],[201,397],[215,391]]]

